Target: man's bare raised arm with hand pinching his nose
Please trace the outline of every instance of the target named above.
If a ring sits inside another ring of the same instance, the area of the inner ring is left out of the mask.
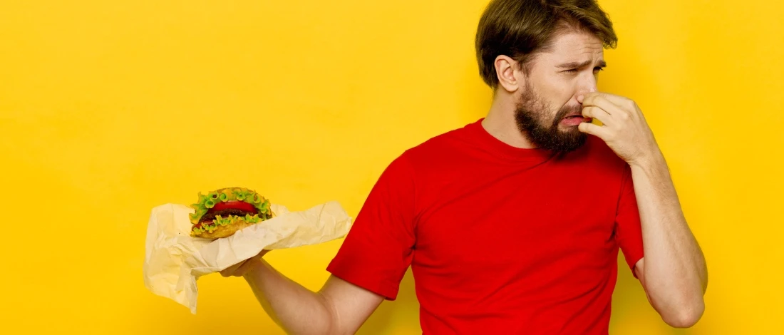
[[[584,116],[602,123],[583,123],[580,131],[604,140],[631,169],[644,249],[635,275],[667,324],[693,326],[705,309],[705,257],[688,228],[670,171],[642,111],[633,100],[607,93],[588,93],[578,100]]]

